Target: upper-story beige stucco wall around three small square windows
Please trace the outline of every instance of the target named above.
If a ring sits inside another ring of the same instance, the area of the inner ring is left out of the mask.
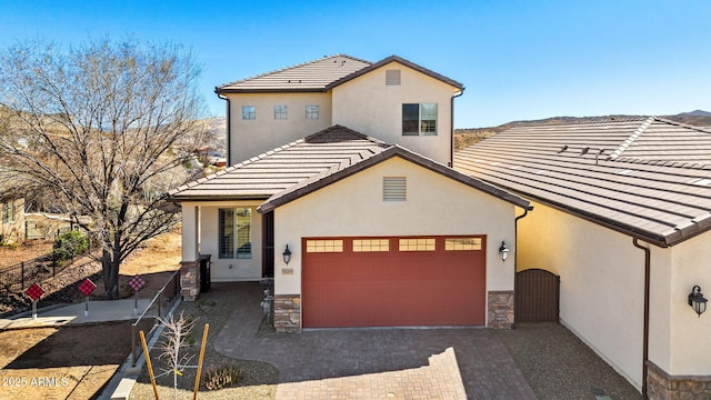
[[[331,93],[231,93],[232,163],[287,144],[333,124]],[[242,119],[242,106],[254,106],[257,118]],[[287,119],[274,119],[274,106],[287,106]],[[319,119],[306,119],[306,107],[319,106]]]

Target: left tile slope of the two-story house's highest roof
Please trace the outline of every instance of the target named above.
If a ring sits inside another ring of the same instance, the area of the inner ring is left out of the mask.
[[[226,83],[214,90],[218,93],[326,91],[329,84],[370,64],[370,62],[354,57],[336,54]]]

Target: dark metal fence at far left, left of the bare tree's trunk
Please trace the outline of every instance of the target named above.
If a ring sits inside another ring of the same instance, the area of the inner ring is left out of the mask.
[[[87,234],[87,237],[89,238],[88,251],[90,252],[93,250],[92,246],[97,243],[97,241],[91,240],[91,234]],[[34,282],[40,282],[44,279],[57,276],[57,273],[73,263],[77,258],[86,254],[77,254],[73,251],[77,243],[78,242],[67,242],[66,247],[54,249],[51,253],[38,257],[30,261],[22,261],[19,264],[10,266],[0,270],[0,296],[8,296],[11,292],[21,292],[24,288]],[[70,258],[58,261],[53,254],[61,250],[64,250],[67,254],[71,254]]]

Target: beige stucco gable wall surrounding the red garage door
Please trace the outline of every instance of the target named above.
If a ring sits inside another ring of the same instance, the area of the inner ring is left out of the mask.
[[[383,201],[383,177],[407,178],[407,201]],[[393,158],[274,210],[276,293],[301,293],[301,238],[341,236],[487,234],[487,290],[513,289],[514,206]],[[292,261],[281,261],[289,244]]]

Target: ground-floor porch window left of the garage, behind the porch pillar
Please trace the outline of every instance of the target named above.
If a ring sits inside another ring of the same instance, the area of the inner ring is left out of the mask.
[[[221,259],[252,258],[252,209],[219,210]]]

